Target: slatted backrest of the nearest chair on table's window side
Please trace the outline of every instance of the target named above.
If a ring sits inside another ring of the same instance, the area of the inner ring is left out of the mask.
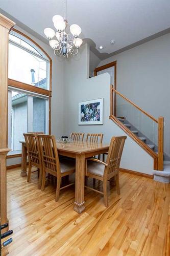
[[[37,134],[41,152],[42,168],[60,175],[60,162],[57,152],[56,138],[54,135]]]

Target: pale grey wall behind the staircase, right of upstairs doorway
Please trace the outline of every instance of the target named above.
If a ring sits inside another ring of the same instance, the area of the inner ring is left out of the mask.
[[[155,118],[164,116],[164,152],[170,155],[170,34],[102,60],[117,60],[117,91]]]

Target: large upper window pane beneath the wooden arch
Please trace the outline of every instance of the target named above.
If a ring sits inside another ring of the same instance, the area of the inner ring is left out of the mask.
[[[46,74],[47,61],[9,44],[9,78],[48,90]]]

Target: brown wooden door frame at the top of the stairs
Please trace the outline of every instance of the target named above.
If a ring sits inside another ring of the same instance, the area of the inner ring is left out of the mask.
[[[117,61],[112,61],[107,63],[106,65],[100,66],[98,68],[94,69],[94,76],[98,75],[99,71],[108,69],[114,67],[114,89],[117,90],[116,86],[116,74],[117,74]],[[114,116],[116,116],[116,93],[114,93],[114,110],[113,110]]]

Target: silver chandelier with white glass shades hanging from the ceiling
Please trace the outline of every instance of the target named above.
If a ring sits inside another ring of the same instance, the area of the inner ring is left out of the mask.
[[[66,0],[65,0],[66,1]],[[66,17],[66,2],[65,2],[65,17]],[[51,48],[54,49],[56,56],[62,55],[68,58],[68,54],[76,55],[82,45],[83,40],[78,38],[81,34],[81,28],[77,24],[70,26],[70,33],[66,33],[67,19],[61,15],[53,16],[54,27],[57,32],[51,28],[44,29]],[[55,39],[54,39],[54,36]]]

